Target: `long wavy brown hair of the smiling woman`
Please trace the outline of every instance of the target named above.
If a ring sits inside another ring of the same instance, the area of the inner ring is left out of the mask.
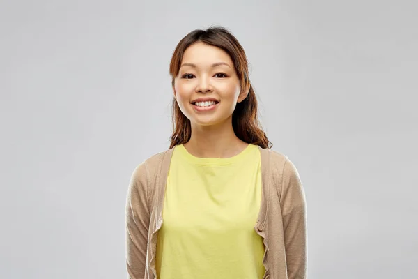
[[[271,149],[273,144],[267,139],[267,135],[265,135],[265,132],[261,128],[261,123],[257,118],[257,99],[254,88],[251,86],[249,80],[247,56],[237,38],[226,28],[209,27],[206,30],[196,29],[180,40],[176,50],[173,52],[170,63],[169,71],[173,89],[174,79],[180,70],[180,64],[183,60],[185,50],[190,45],[198,42],[220,47],[227,52],[233,61],[235,71],[240,80],[241,89],[249,89],[247,98],[237,103],[232,114],[232,126],[235,135],[243,142],[257,144],[264,149]],[[190,120],[181,112],[176,98],[173,98],[172,107],[173,133],[170,137],[170,149],[177,144],[185,144],[192,135]]]

